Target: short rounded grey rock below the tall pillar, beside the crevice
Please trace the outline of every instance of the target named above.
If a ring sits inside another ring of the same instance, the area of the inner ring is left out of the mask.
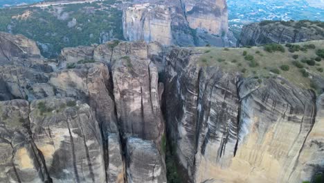
[[[126,148],[128,182],[167,182],[164,161],[152,141],[131,137]]]

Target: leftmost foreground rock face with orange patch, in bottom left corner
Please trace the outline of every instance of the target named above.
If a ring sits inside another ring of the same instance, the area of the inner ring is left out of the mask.
[[[49,182],[48,170],[30,134],[29,104],[0,102],[0,182]]]

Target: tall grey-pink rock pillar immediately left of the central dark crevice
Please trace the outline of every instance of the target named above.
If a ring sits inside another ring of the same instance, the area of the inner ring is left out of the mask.
[[[118,121],[127,136],[160,141],[164,125],[158,71],[148,59],[147,44],[136,44],[120,44],[115,48],[111,70]],[[127,48],[132,49],[127,51]]]

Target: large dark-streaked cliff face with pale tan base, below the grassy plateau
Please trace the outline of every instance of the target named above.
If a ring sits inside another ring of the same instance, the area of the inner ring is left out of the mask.
[[[302,182],[321,171],[323,162],[305,166],[323,143],[311,135],[321,125],[313,92],[199,67],[197,55],[171,51],[165,81],[168,135],[192,182]]]

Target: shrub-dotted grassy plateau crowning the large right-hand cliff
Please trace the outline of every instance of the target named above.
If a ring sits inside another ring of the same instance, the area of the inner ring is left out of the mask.
[[[291,47],[300,49],[291,53],[289,51]],[[261,81],[262,78],[280,76],[294,85],[316,90],[310,77],[315,75],[324,78],[323,40],[290,45],[231,48],[226,51],[221,48],[204,47],[195,51],[200,53],[197,60],[201,66],[216,65],[222,67],[224,71],[235,71],[244,77],[260,78]]]

